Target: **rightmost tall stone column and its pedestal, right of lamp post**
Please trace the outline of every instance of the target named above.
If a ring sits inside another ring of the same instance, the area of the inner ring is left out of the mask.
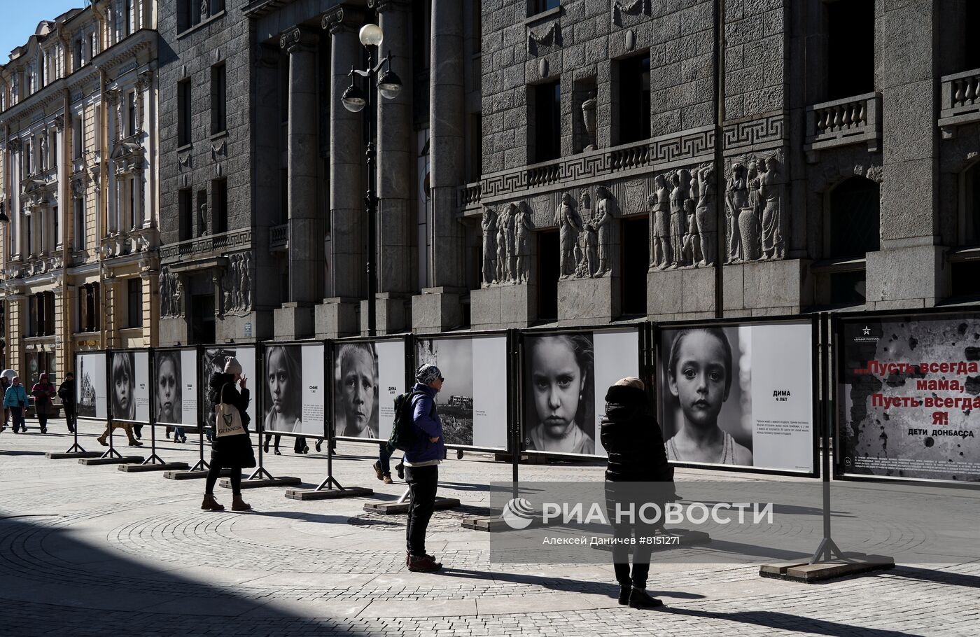
[[[429,64],[429,285],[413,299],[416,329],[445,329],[462,322],[465,291],[464,226],[456,217],[456,190],[463,185],[465,92],[463,3],[432,0]]]

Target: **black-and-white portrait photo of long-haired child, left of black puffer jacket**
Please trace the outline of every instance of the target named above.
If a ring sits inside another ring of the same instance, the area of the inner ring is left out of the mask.
[[[524,350],[524,444],[529,451],[594,454],[590,334],[529,336]]]

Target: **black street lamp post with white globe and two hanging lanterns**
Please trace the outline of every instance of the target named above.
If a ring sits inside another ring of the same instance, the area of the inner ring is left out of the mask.
[[[351,85],[344,90],[341,101],[344,108],[351,113],[358,113],[363,111],[366,106],[368,107],[368,147],[365,149],[365,157],[368,159],[368,191],[365,193],[365,209],[368,213],[368,336],[373,336],[375,330],[374,297],[377,294],[377,266],[375,264],[377,256],[377,246],[375,245],[377,243],[377,152],[375,150],[377,131],[375,120],[377,115],[375,113],[374,88],[376,87],[381,93],[381,97],[389,100],[394,99],[402,90],[402,80],[391,70],[393,56],[390,51],[387,56],[378,60],[377,65],[373,63],[374,57],[371,47],[380,47],[384,40],[384,33],[380,26],[362,26],[360,33],[358,33],[358,39],[368,51],[368,68],[364,71],[351,68],[351,73],[349,73]],[[385,71],[375,82],[374,78],[382,67]],[[359,75],[368,79],[367,91],[358,86],[357,77]]]

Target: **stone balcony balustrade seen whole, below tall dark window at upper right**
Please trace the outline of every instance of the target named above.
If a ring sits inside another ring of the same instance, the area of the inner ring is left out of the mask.
[[[819,151],[851,144],[867,144],[870,153],[881,146],[881,95],[865,93],[843,100],[814,104],[807,108],[807,161],[815,162]]]

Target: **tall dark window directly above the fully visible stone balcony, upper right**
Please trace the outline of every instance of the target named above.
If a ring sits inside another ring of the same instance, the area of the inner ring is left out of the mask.
[[[838,0],[827,7],[827,100],[874,90],[874,0]]]

